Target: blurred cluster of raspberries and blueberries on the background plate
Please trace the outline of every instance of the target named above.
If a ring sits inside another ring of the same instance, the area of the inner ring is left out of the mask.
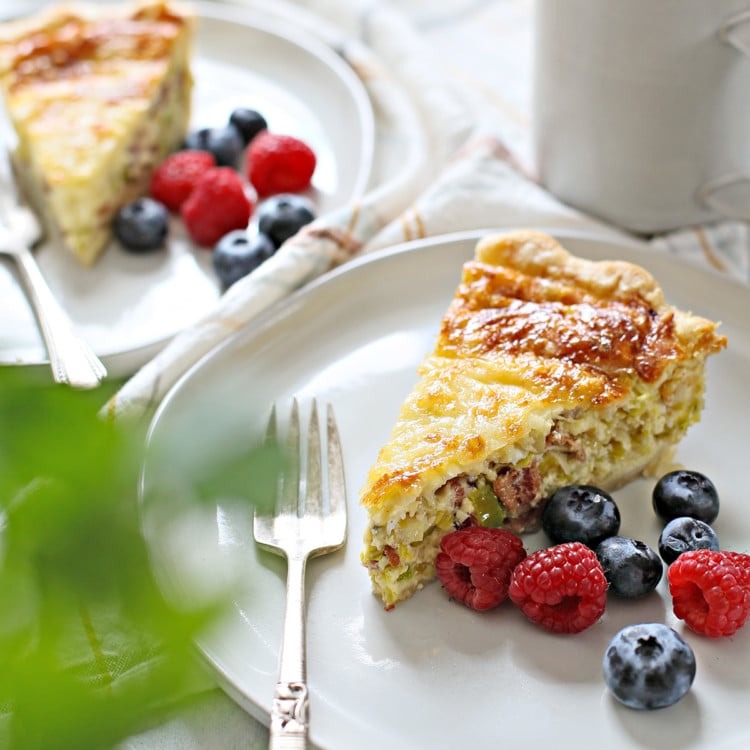
[[[183,148],[156,168],[149,196],[118,212],[115,236],[133,252],[157,249],[169,213],[179,214],[191,239],[213,250],[214,269],[228,287],[315,218],[312,202],[299,193],[310,187],[316,161],[303,141],[269,131],[259,112],[235,109],[226,125],[188,133]],[[258,232],[250,234],[254,212]]]

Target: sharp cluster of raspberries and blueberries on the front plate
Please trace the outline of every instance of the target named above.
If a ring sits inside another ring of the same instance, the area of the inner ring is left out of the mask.
[[[719,512],[715,486],[698,472],[670,472],[656,483],[652,504],[665,522],[659,555],[619,535],[620,512],[608,493],[571,485],[542,513],[551,546],[527,554],[509,531],[467,526],[443,537],[437,576],[452,598],[472,609],[509,599],[543,628],[578,633],[602,617],[608,594],[636,599],[652,591],[663,560],[675,616],[697,633],[732,635],[750,616],[750,555],[719,549],[709,525]],[[658,708],[688,691],[695,657],[672,628],[639,623],[611,640],[603,671],[618,700]]]

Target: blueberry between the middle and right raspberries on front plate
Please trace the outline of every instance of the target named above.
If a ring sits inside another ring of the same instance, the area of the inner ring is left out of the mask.
[[[659,555],[637,539],[610,536],[596,547],[609,591],[615,596],[637,599],[656,588],[664,566]]]

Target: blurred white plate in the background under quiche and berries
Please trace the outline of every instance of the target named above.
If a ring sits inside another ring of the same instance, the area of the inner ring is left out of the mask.
[[[196,5],[193,126],[220,125],[237,106],[318,156],[311,197],[324,214],[360,195],[370,173],[373,115],[360,80],[331,49],[257,13]],[[0,105],[1,107],[2,105]],[[0,112],[0,143],[12,142]],[[60,248],[37,259],[55,295],[110,376],[129,374],[220,295],[209,253],[171,232],[166,252],[133,256],[112,243],[83,269]],[[0,258],[0,364],[45,363],[47,354],[13,265]]]

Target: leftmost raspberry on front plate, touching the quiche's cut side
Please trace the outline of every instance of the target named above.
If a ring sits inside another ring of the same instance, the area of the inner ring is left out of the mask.
[[[446,534],[435,569],[445,590],[467,607],[486,610],[508,596],[513,568],[526,557],[523,542],[505,529],[484,526]]]

